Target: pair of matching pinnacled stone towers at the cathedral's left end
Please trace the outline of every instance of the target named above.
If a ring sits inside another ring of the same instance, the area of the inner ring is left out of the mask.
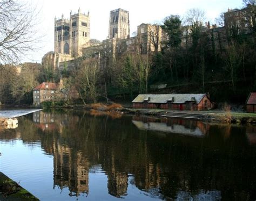
[[[64,15],[61,19],[55,18],[54,36],[55,53],[81,56],[82,47],[88,46],[90,41],[90,13],[85,15],[79,8],[78,13],[70,12],[70,19],[64,19]]]

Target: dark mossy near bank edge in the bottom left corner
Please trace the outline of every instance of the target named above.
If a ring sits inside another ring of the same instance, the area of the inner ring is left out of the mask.
[[[25,190],[11,180],[8,176],[0,172],[0,200],[39,200],[29,191]]]

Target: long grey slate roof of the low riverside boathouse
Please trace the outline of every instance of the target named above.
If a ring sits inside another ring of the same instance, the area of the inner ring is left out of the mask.
[[[186,101],[193,101],[200,103],[201,99],[206,94],[140,94],[132,103],[143,103],[147,100],[148,103],[167,103],[168,100],[173,100],[172,103],[185,103]]]

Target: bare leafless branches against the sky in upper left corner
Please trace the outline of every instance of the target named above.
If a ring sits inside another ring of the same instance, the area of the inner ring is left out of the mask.
[[[33,49],[35,13],[27,4],[0,0],[0,63],[15,63]]]

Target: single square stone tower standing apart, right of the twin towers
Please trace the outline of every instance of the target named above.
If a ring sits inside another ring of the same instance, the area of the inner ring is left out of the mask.
[[[109,38],[126,39],[130,37],[129,11],[117,9],[110,11]]]

